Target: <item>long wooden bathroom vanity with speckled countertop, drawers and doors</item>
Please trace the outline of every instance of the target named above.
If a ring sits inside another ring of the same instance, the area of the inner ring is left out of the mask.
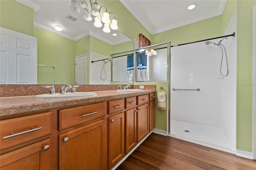
[[[111,169],[154,128],[155,92],[0,98],[0,168]]]

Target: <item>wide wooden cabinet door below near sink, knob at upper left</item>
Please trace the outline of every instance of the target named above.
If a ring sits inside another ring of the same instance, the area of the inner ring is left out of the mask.
[[[104,119],[60,134],[59,169],[107,169],[105,124]]]

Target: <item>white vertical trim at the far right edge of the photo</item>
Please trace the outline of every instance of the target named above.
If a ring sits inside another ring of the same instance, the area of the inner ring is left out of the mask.
[[[256,159],[256,6],[252,7],[252,153]]]

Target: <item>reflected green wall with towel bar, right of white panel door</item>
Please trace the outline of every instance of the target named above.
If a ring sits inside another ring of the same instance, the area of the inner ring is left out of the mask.
[[[56,69],[38,66],[38,84],[75,83],[75,42],[40,28],[34,28],[37,38],[37,63],[56,65]]]

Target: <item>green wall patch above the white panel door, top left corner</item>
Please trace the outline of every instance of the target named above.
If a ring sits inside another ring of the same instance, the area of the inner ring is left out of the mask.
[[[34,9],[14,0],[0,0],[0,27],[34,36]]]

